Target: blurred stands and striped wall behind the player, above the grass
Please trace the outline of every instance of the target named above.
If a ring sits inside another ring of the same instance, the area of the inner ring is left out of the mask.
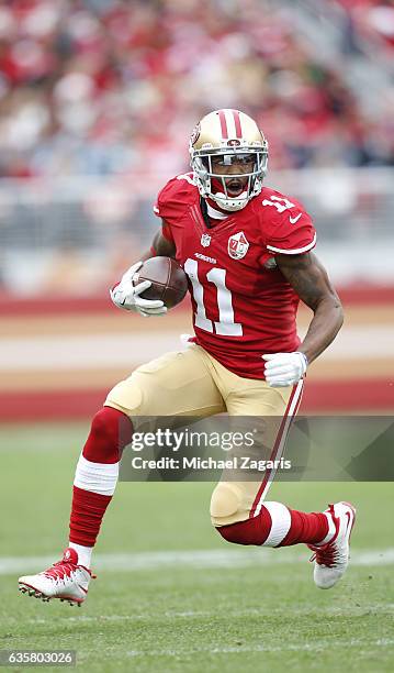
[[[0,0],[0,422],[90,416],[190,331],[109,287],[224,107],[261,125],[266,185],[304,202],[346,305],[303,408],[393,409],[393,56],[384,0]]]

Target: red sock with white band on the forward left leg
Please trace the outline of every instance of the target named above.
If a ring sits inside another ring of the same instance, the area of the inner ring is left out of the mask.
[[[116,486],[119,462],[132,434],[130,418],[117,409],[103,407],[94,416],[76,471],[70,542],[94,547]]]

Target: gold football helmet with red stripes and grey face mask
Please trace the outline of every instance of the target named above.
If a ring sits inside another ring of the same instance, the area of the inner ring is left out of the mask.
[[[228,211],[241,210],[262,188],[267,173],[268,142],[257,123],[239,110],[215,110],[206,114],[194,128],[189,144],[190,163],[194,179],[202,197],[210,198]],[[235,198],[228,195],[226,180],[228,175],[214,173],[213,156],[223,156],[224,162],[230,157],[255,156],[251,173],[233,175],[232,178],[247,179],[247,188]],[[228,157],[228,158],[227,158]],[[222,190],[213,190],[219,184]]]

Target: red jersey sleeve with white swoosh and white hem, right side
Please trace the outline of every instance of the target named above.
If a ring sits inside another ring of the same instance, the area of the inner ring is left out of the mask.
[[[316,245],[316,230],[305,210],[292,208],[274,219],[267,236],[267,250],[283,255],[300,255]]]

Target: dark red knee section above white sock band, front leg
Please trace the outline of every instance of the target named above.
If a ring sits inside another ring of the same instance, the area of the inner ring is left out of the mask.
[[[117,409],[103,407],[93,417],[82,455],[92,463],[117,463],[132,435],[130,418]]]

